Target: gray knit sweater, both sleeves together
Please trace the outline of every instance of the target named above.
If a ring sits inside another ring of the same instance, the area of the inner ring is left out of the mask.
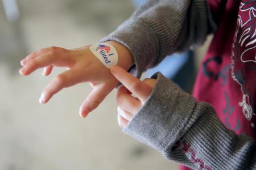
[[[135,61],[130,71],[139,77],[167,54],[202,44],[216,27],[206,0],[150,0],[101,41],[125,45]],[[125,133],[194,169],[256,169],[252,138],[225,128],[209,104],[162,74],[153,78],[151,95]]]

